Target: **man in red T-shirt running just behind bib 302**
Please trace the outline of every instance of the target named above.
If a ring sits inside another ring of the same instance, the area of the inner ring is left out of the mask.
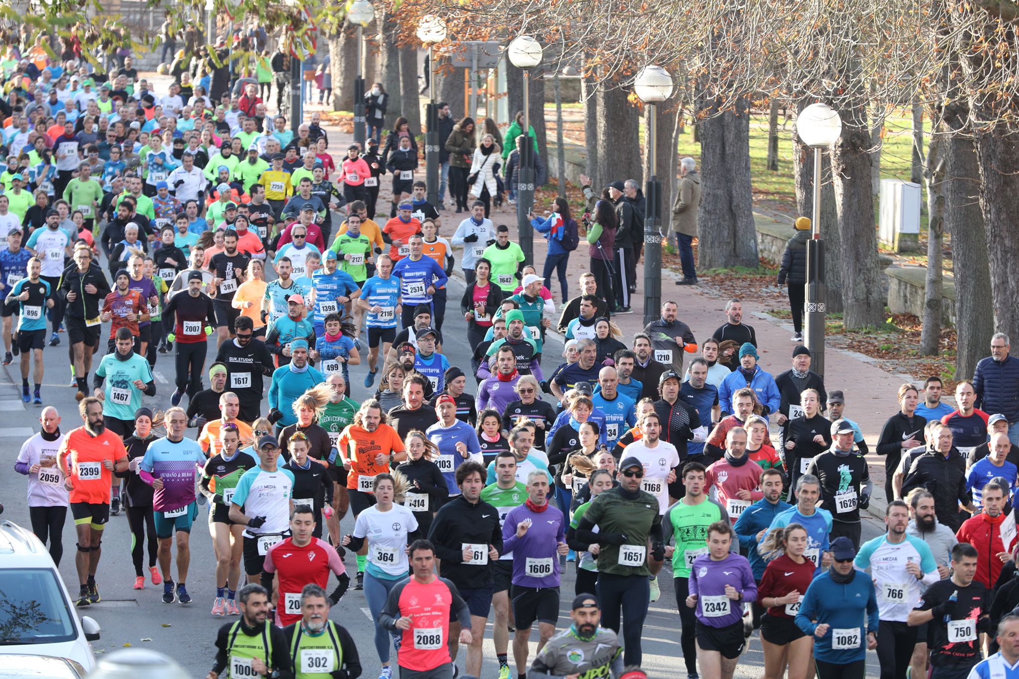
[[[266,573],[274,573],[272,591],[276,605],[276,624],[285,627],[301,620],[301,591],[306,584],[325,589],[329,571],[336,574],[339,584],[329,594],[330,606],[336,606],[351,585],[351,577],[336,550],[325,540],[312,536],[315,514],[307,505],[293,508],[290,516],[290,536],[269,547],[265,555]]]

